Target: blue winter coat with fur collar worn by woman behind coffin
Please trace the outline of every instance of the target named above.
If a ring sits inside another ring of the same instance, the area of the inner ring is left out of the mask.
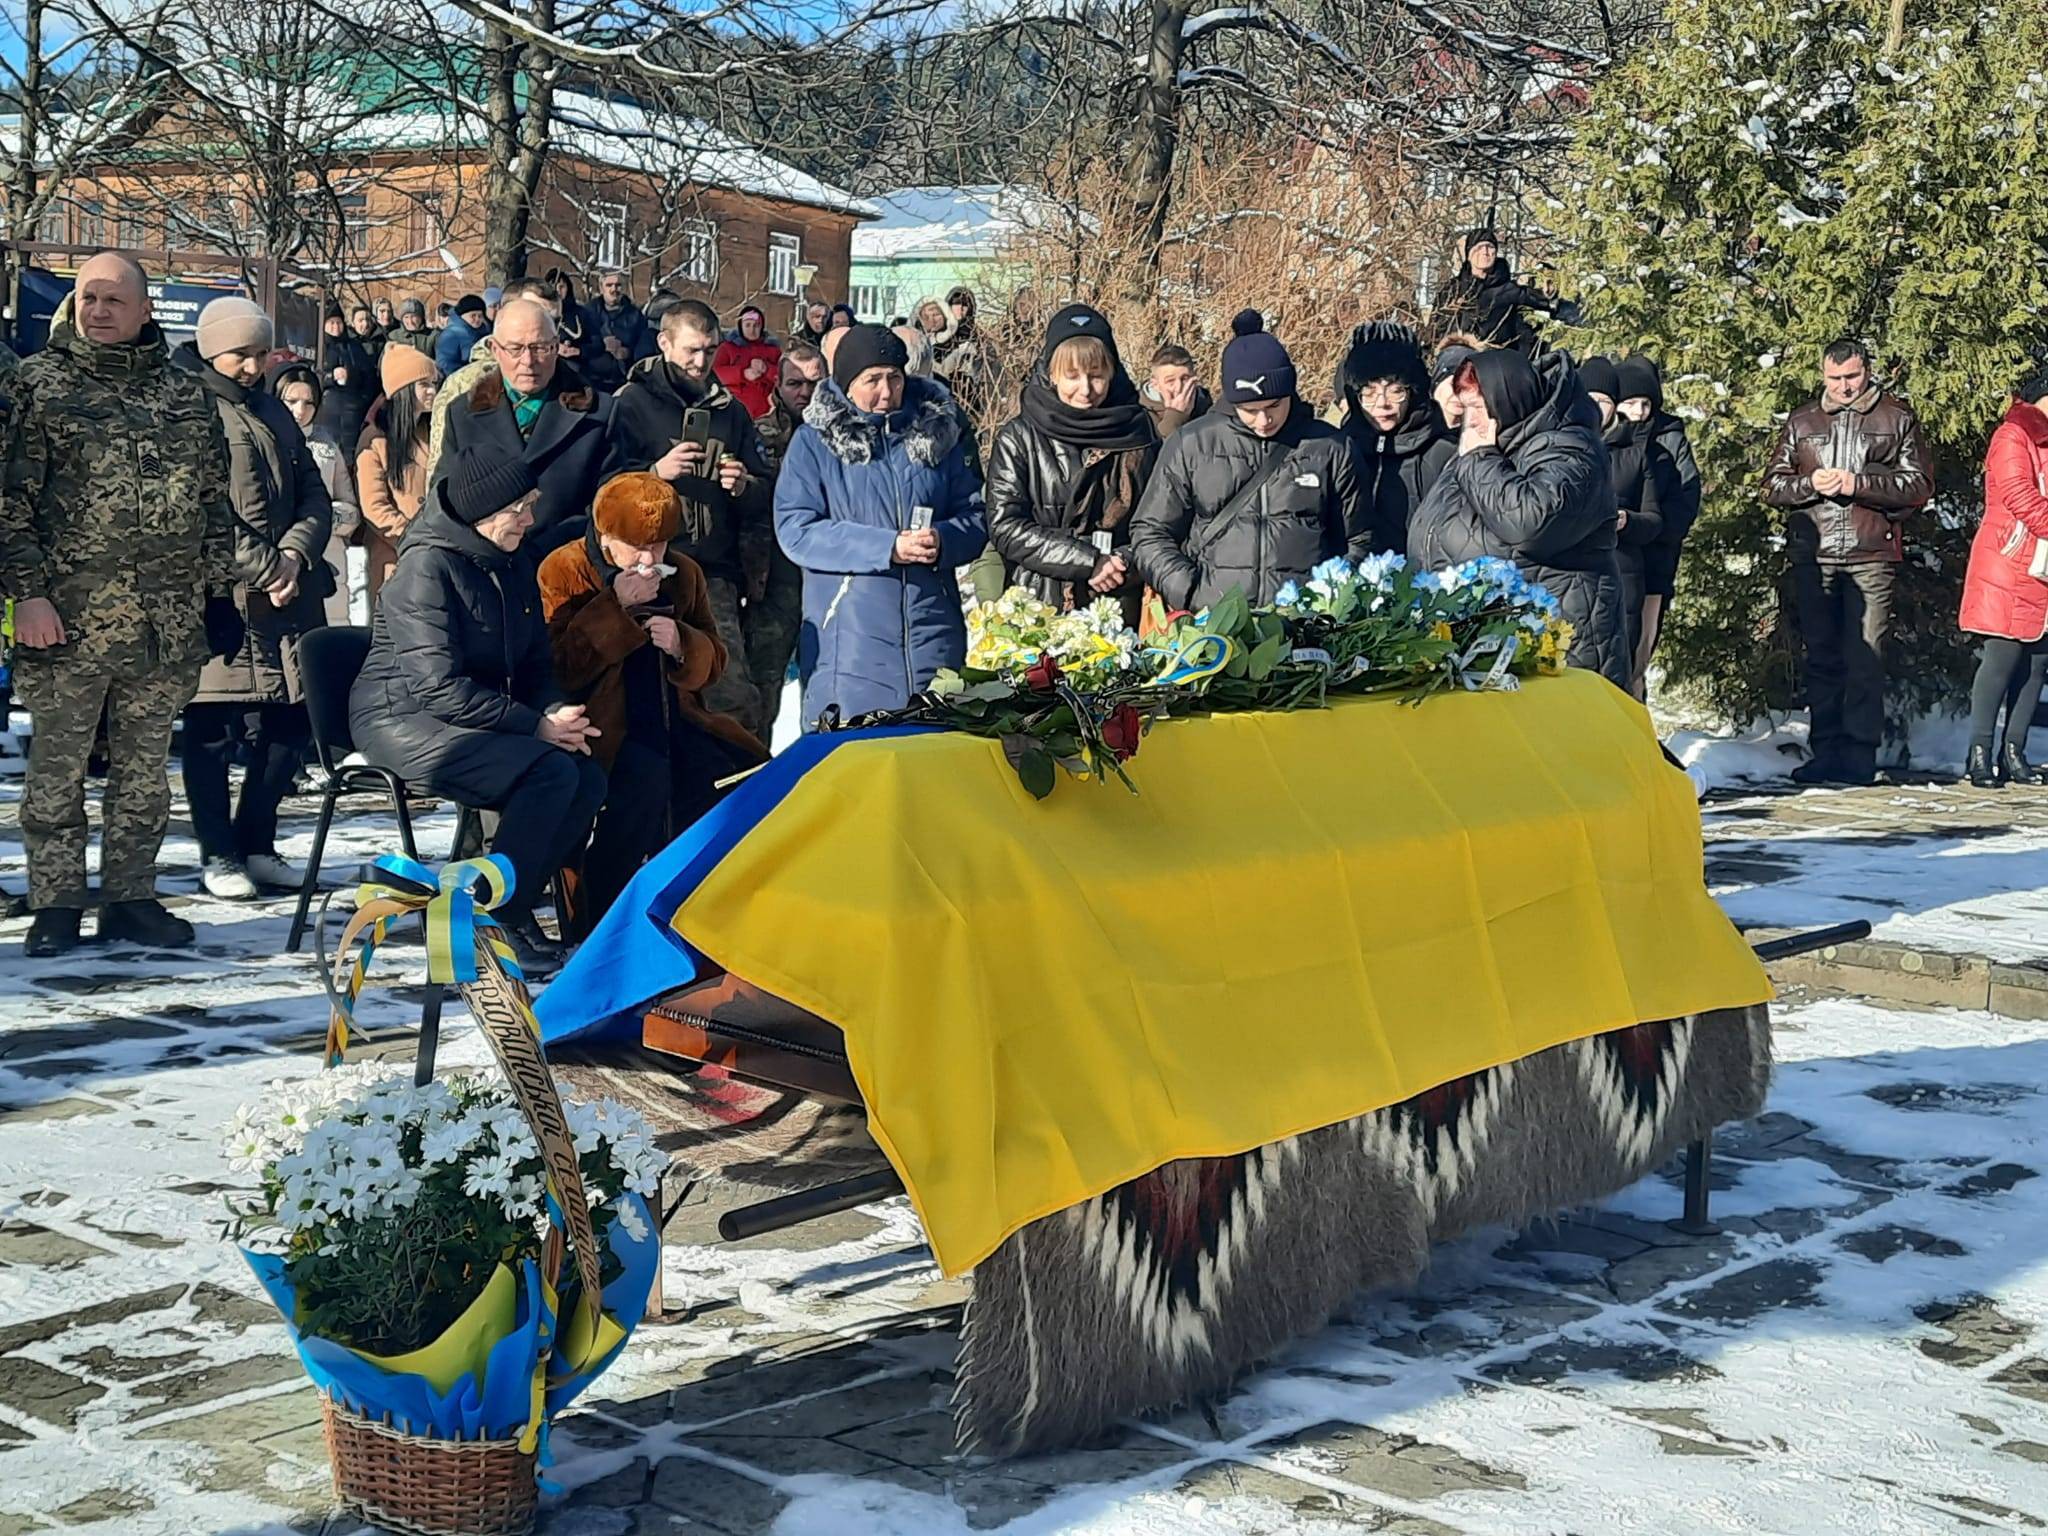
[[[803,569],[803,717],[901,709],[967,659],[952,573],[989,541],[967,418],[946,387],[909,379],[893,416],[868,416],[834,381],[817,387],[782,457],[776,539]],[[895,537],[932,510],[938,565],[895,565]]]

